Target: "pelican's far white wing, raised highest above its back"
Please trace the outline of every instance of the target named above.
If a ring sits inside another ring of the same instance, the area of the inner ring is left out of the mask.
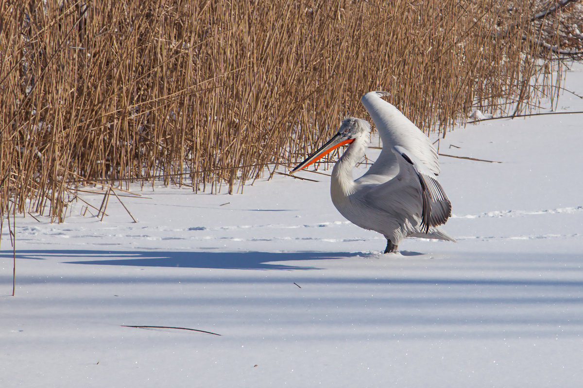
[[[399,109],[382,99],[381,96],[384,95],[388,95],[388,92],[368,92],[360,100],[373,118],[383,145],[377,161],[365,176],[371,174],[394,176],[397,161],[392,147],[395,145],[408,149],[409,155],[414,155],[427,169],[437,175],[440,172],[437,151],[429,138]]]

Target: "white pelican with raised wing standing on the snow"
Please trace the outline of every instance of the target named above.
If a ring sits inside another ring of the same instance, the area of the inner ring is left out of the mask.
[[[377,161],[354,180],[352,170],[368,145],[370,123],[347,118],[338,133],[308,156],[291,174],[306,168],[341,145],[348,148],[332,169],[332,203],[347,220],[387,239],[385,253],[398,252],[406,237],[455,241],[442,230],[451,202],[436,180],[437,151],[429,138],[395,106],[382,99],[388,92],[368,92],[361,103],[382,140]]]

